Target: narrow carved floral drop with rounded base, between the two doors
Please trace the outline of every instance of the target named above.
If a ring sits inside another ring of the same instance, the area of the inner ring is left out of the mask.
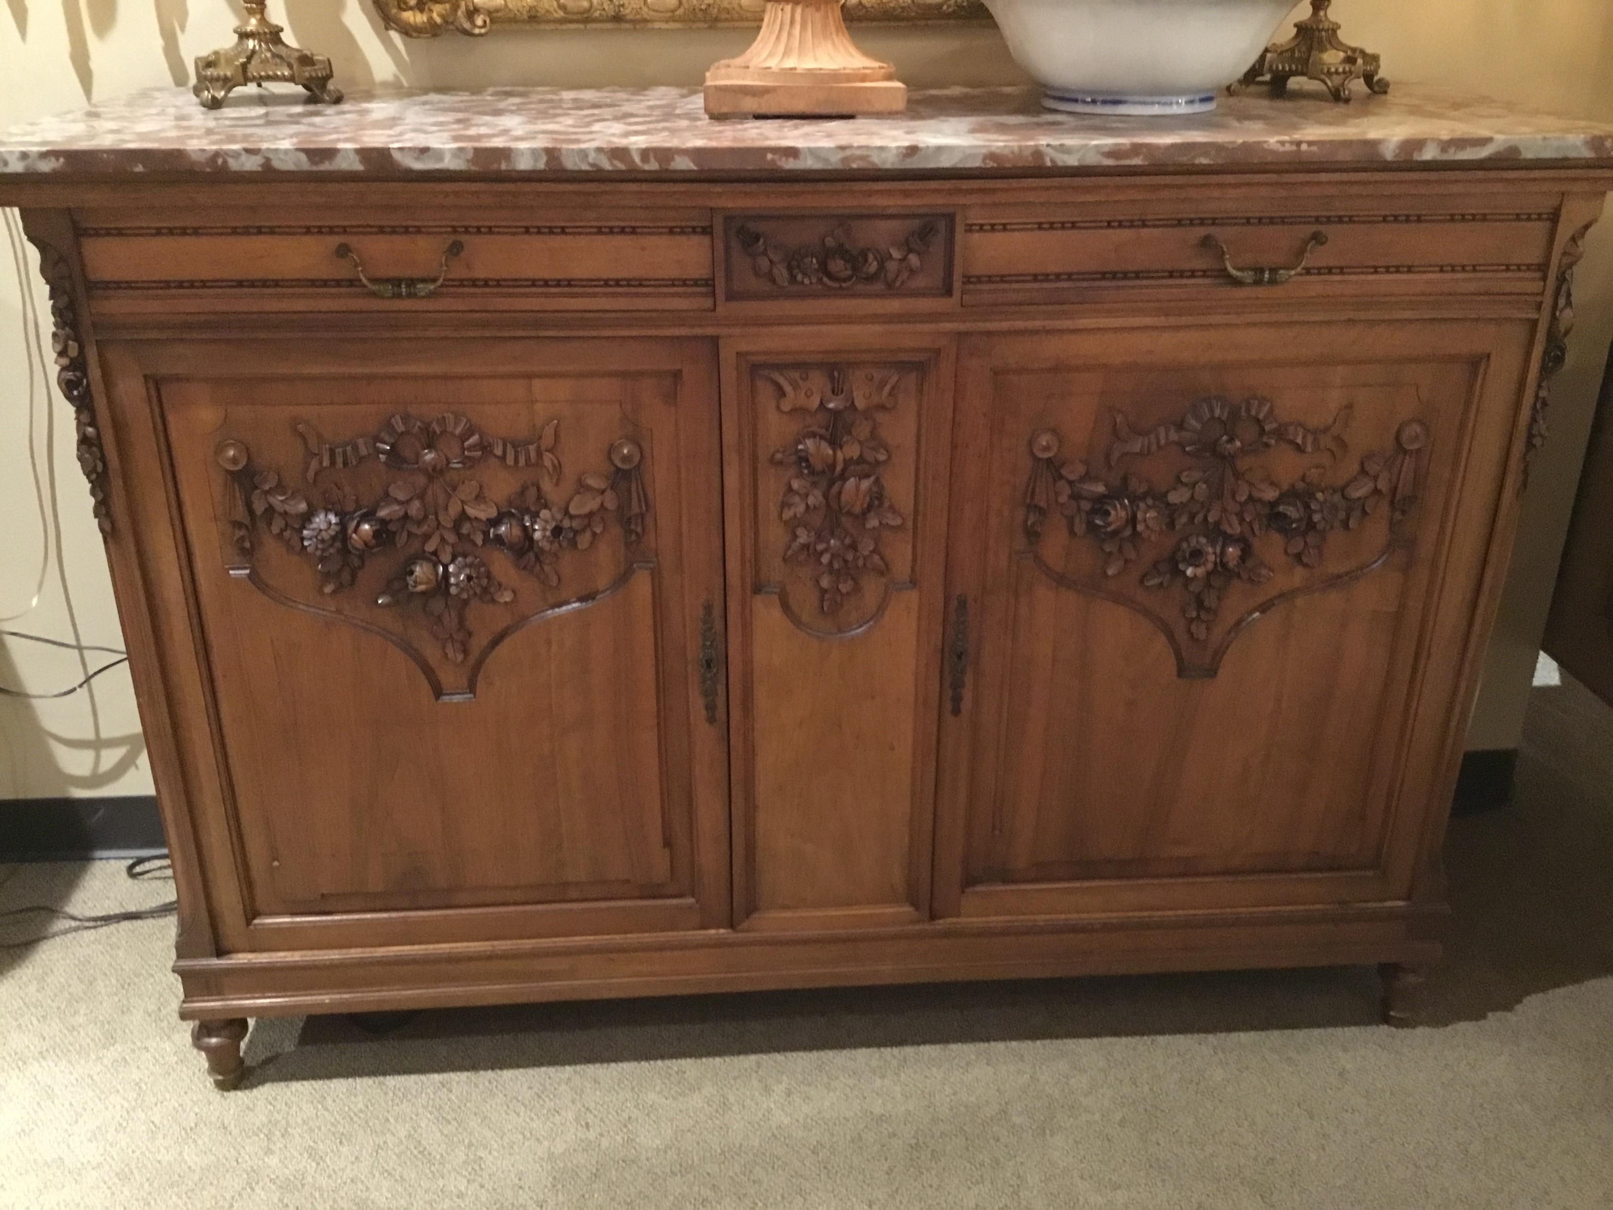
[[[916,374],[892,365],[753,374],[771,447],[760,490],[761,536],[774,550],[761,561],[777,573],[763,590],[811,634],[857,632],[905,587]]]

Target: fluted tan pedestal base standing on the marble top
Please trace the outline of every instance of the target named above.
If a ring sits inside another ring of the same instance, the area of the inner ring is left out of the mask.
[[[845,31],[840,0],[768,0],[761,32],[706,73],[711,118],[858,118],[902,113],[907,86]]]

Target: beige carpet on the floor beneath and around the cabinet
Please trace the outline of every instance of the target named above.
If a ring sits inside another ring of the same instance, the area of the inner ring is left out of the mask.
[[[1361,970],[326,1018],[221,1095],[139,923],[0,952],[0,1207],[1607,1210],[1613,715],[1537,699],[1423,1029]],[[0,910],[165,891],[0,868]]]

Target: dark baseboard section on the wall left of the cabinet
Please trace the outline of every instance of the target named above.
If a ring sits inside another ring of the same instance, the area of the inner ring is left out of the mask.
[[[168,847],[156,799],[0,800],[0,862],[144,857]]]

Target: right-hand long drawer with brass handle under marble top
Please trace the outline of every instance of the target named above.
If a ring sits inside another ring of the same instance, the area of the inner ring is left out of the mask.
[[[1266,208],[979,207],[965,223],[963,303],[1248,289],[1539,295],[1557,223],[1552,202],[1474,210],[1471,197],[1461,200],[1468,205],[1329,197],[1276,198]]]

